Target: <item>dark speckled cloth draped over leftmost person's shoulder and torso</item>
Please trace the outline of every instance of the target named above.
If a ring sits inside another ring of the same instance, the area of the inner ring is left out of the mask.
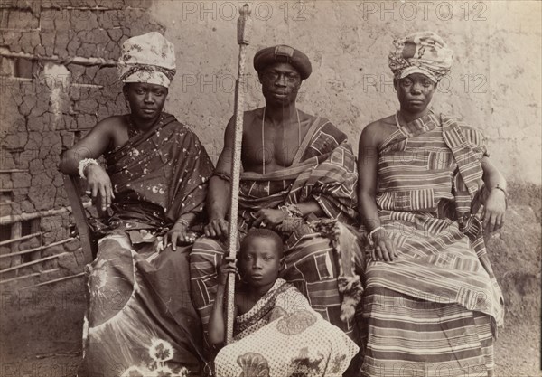
[[[199,220],[213,171],[198,137],[163,113],[151,129],[106,155],[115,199],[111,228],[171,228],[182,214]]]

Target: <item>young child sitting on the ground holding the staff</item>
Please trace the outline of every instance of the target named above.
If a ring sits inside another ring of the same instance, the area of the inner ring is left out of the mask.
[[[267,229],[249,231],[238,257],[238,267],[229,258],[220,267],[210,315],[209,341],[223,344],[226,281],[230,272],[239,271],[234,342],[217,354],[215,375],[342,376],[359,348],[316,313],[293,285],[278,278],[283,258],[280,237]]]

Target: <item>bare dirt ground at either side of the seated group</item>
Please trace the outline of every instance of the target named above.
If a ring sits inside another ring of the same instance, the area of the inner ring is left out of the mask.
[[[0,376],[76,375],[85,306],[82,292],[80,278],[40,290],[3,292]],[[536,302],[520,301],[521,305],[537,306]],[[539,317],[509,313],[495,347],[496,375],[542,376]]]

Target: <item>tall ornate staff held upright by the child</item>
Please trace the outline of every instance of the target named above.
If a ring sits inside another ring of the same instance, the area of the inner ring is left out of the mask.
[[[238,18],[238,79],[235,83],[235,134],[233,137],[233,156],[231,161],[231,200],[229,202],[229,257],[235,259],[237,254],[238,242],[238,193],[239,193],[239,174],[241,166],[241,141],[243,138],[243,113],[244,113],[244,93],[245,88],[245,59],[247,57],[248,33],[252,21],[249,18],[250,8],[248,4],[243,5],[239,10]],[[234,295],[235,295],[235,275],[229,274],[228,277],[228,295],[226,297],[227,317],[226,317],[226,344],[230,344],[233,336],[234,321]]]

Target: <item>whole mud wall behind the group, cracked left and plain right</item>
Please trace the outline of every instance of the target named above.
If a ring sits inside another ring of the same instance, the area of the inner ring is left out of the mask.
[[[354,149],[362,127],[397,109],[387,61],[392,39],[426,29],[450,44],[453,71],[441,82],[435,110],[461,115],[481,128],[492,160],[509,179],[507,223],[488,235],[508,306],[508,327],[497,348],[498,371],[532,375],[537,365],[529,363],[525,369],[521,363],[538,357],[533,342],[539,336],[541,252],[540,3],[251,4],[246,107],[263,105],[252,69],[254,53],[272,44],[291,44],[313,62],[299,107],[330,118]],[[0,11],[0,217],[68,205],[57,171],[61,151],[98,120],[126,112],[114,61],[120,44],[133,35],[159,31],[175,45],[177,75],[165,109],[194,129],[216,161],[233,112],[238,2],[0,0]],[[70,216],[44,216],[25,227],[42,231],[42,243],[51,244],[70,235]],[[18,249],[39,245],[23,240]],[[60,268],[61,276],[80,271],[84,260],[78,248],[78,241],[70,240],[44,250],[42,257],[68,255],[28,272]],[[9,251],[0,246],[0,254]],[[5,260],[0,259],[0,269],[11,266]],[[84,303],[79,311],[81,307]],[[79,331],[78,321],[72,319],[72,332]],[[47,349],[50,337],[43,339]],[[74,339],[79,342],[76,335]],[[516,350],[522,354],[509,356]]]

